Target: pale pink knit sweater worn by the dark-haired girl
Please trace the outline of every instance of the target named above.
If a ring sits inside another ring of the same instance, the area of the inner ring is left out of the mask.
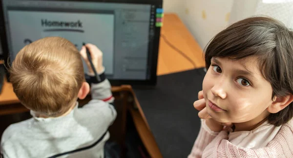
[[[241,148],[227,139],[226,131],[215,135],[201,127],[188,158],[293,158],[292,124],[282,125],[276,137],[263,148]]]

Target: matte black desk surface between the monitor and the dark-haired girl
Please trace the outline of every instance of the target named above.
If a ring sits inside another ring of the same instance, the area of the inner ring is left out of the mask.
[[[202,90],[203,68],[158,76],[152,89],[133,88],[164,158],[186,158],[200,129],[193,102]]]

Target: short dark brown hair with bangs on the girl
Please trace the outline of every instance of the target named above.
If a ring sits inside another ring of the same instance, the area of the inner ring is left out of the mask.
[[[218,33],[205,51],[206,68],[212,57],[257,57],[263,77],[272,85],[272,99],[293,94],[293,32],[282,22],[258,16],[233,23]],[[293,118],[293,103],[268,120],[275,126]]]

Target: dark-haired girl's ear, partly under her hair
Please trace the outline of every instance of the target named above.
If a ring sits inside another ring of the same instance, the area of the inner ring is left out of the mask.
[[[284,97],[275,97],[272,100],[272,104],[267,108],[270,113],[277,113],[287,107],[293,101],[293,95],[287,95]]]

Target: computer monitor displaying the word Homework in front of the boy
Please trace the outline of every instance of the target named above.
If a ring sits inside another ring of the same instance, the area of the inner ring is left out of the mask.
[[[59,36],[78,49],[83,43],[97,45],[113,85],[156,83],[162,0],[0,1],[6,64],[12,64],[26,44]]]

